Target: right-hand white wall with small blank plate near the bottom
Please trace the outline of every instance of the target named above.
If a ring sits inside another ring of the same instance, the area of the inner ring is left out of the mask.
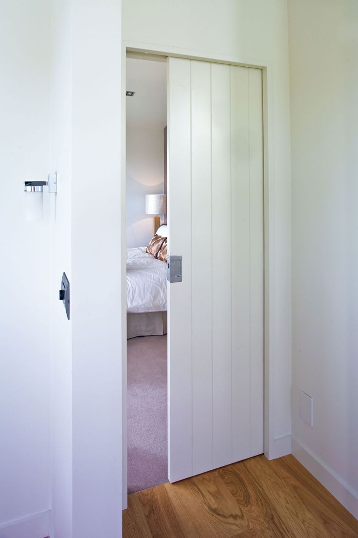
[[[289,0],[294,454],[328,470],[321,479],[356,517],[357,26],[353,0]],[[313,428],[299,419],[299,389],[313,398]]]

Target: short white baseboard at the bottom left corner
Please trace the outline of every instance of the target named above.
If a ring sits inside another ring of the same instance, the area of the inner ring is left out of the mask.
[[[0,525],[0,538],[46,538],[50,536],[51,512],[41,512]]]

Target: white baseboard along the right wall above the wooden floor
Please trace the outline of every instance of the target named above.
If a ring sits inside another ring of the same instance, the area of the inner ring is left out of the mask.
[[[317,478],[318,482],[358,519],[358,494],[294,436],[291,436],[291,449],[299,463],[302,463],[311,475]]]

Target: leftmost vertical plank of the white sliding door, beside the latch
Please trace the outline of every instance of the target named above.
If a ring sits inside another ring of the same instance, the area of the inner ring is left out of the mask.
[[[175,482],[193,474],[190,61],[170,58],[167,79],[168,247],[170,254],[181,254],[183,264],[182,282],[168,292],[168,463]]]

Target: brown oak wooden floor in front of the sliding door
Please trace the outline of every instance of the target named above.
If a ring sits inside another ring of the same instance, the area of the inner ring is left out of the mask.
[[[123,538],[358,538],[358,521],[293,456],[246,459],[129,495]]]

